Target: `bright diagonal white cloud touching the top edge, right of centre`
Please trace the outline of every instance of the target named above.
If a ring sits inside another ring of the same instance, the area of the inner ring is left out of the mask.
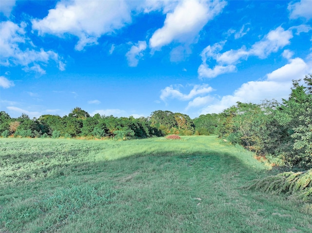
[[[150,47],[159,50],[172,41],[193,43],[207,22],[218,15],[225,1],[180,1],[173,12],[167,14],[164,26],[153,34]]]

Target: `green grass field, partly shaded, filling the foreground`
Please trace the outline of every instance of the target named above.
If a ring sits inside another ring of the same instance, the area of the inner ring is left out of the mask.
[[[0,139],[0,233],[311,233],[311,203],[240,188],[268,168],[215,136]]]

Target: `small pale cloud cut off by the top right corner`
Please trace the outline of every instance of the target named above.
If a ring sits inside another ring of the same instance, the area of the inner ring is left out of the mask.
[[[288,5],[288,10],[290,11],[290,18],[312,18],[311,1],[301,0],[293,4]]]

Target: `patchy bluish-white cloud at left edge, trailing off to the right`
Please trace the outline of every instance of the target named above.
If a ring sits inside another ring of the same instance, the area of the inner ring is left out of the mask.
[[[2,66],[21,65],[25,72],[33,71],[44,74],[45,71],[39,63],[47,64],[50,60],[56,62],[59,70],[64,70],[65,64],[59,55],[52,50],[45,51],[42,48],[35,50],[25,36],[25,23],[20,25],[11,21],[0,22],[0,64]],[[28,44],[29,43],[29,44]],[[21,49],[27,45],[27,49]]]

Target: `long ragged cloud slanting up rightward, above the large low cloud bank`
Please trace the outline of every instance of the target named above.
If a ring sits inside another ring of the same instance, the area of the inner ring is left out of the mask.
[[[242,59],[247,60],[249,56],[257,56],[261,59],[269,54],[277,52],[279,49],[290,44],[292,38],[291,30],[284,30],[278,27],[270,31],[264,38],[257,41],[250,49],[242,46],[238,50],[229,50],[220,53],[226,41],[207,46],[201,53],[202,64],[198,68],[199,78],[214,78],[223,73],[234,72],[236,64]],[[216,65],[209,67],[210,60],[214,59]]]

